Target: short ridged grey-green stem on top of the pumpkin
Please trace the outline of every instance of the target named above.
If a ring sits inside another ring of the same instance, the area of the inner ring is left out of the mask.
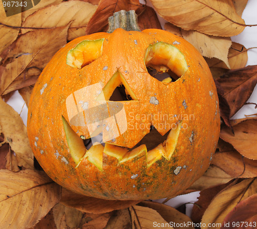
[[[112,33],[117,28],[122,28],[126,31],[140,31],[135,10],[115,12],[113,16],[108,18],[108,24],[108,33]]]

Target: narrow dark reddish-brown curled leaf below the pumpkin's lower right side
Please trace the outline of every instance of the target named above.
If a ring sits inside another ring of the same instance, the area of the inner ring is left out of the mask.
[[[203,217],[205,210],[211,203],[211,200],[220,192],[222,189],[227,187],[229,183],[217,185],[211,188],[204,189],[200,191],[200,196],[198,201],[195,202],[192,208],[191,219],[194,223],[200,223],[201,218]]]

